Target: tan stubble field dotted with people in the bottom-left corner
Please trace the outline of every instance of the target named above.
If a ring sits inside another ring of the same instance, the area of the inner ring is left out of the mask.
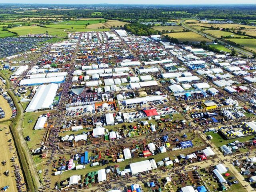
[[[17,154],[16,154],[16,150],[14,148],[14,143],[12,140],[12,134],[6,134],[8,132],[10,132],[9,126],[7,124],[0,124],[0,129],[2,129],[2,131],[0,131],[0,146],[4,146],[4,148],[2,147],[0,149],[0,189],[2,189],[4,186],[9,185],[10,188],[8,189],[8,191],[11,192],[17,192],[17,188],[16,188],[16,180],[15,180],[15,176],[14,176],[14,167],[12,166],[13,162],[10,161],[10,159],[12,157],[15,157],[15,164],[17,164],[20,167],[20,162],[18,161],[17,158]],[[8,142],[10,141],[10,142]],[[10,146],[8,146],[10,145]],[[11,147],[13,146],[13,147]],[[12,148],[12,149],[11,149]],[[10,150],[11,149],[11,150]],[[2,162],[6,160],[6,165],[2,165]],[[6,170],[10,171],[9,176],[5,176],[4,172]],[[20,172],[22,178],[23,178],[23,183],[24,183],[24,177],[22,175],[22,172]],[[24,192],[27,191],[26,190],[26,186],[24,186]]]

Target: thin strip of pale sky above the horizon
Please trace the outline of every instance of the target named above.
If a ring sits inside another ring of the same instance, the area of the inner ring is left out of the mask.
[[[1,1],[0,1],[1,2]],[[8,0],[2,3],[37,3],[37,4],[256,4],[255,0]]]

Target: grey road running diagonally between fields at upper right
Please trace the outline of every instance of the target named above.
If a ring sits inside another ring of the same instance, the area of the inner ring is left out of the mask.
[[[214,41],[214,40],[217,39],[217,38],[215,38],[215,37],[213,37],[213,36],[210,36],[209,34],[204,33],[203,31],[196,30],[195,28],[190,27],[188,24],[185,23],[185,21],[186,21],[186,20],[182,20],[182,22],[181,22],[182,27],[184,27],[184,28],[186,28],[186,29],[188,29],[188,30],[191,30],[192,32],[195,32],[195,33],[197,33],[197,34],[199,34],[199,35],[201,35],[201,36],[205,36],[206,38],[208,38],[208,39],[210,39],[210,40],[212,40],[212,41]],[[219,43],[221,43],[221,44],[223,44],[223,45],[227,45],[226,42],[224,42],[224,41],[222,41],[222,40],[220,40],[220,39],[217,39],[217,40],[218,40]],[[236,50],[237,52],[240,52],[240,53],[242,53],[242,54],[245,54],[246,56],[249,56],[249,57],[252,57],[252,56],[253,56],[251,52],[246,51],[246,50],[244,50],[244,49],[242,49],[242,48],[239,48],[238,46],[233,46],[233,45],[232,45],[232,47],[233,47],[234,50]]]

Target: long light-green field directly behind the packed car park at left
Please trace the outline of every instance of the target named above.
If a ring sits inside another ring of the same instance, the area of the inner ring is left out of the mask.
[[[44,34],[46,33],[46,31],[48,31],[49,35],[65,37],[68,33],[68,31],[64,29],[45,28],[45,27],[39,27],[39,26],[14,27],[14,28],[11,28],[10,31],[18,33],[19,36],[28,35],[28,34]]]

